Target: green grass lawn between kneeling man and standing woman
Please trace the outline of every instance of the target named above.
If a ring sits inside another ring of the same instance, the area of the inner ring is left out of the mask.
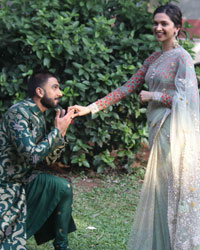
[[[73,217],[77,231],[69,234],[71,250],[125,250],[138,202],[138,176],[73,178]],[[53,249],[52,242],[37,246],[28,240],[28,250]]]

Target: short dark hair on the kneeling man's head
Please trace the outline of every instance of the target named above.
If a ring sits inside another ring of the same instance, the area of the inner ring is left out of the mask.
[[[28,96],[34,97],[36,95],[36,88],[44,87],[50,77],[56,78],[56,76],[50,72],[36,72],[32,74],[28,79]]]

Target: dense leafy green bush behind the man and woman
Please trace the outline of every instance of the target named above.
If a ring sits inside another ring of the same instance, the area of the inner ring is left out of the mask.
[[[147,9],[140,0],[2,0],[0,116],[26,96],[33,71],[58,76],[63,108],[88,105],[125,83],[157,47]],[[93,117],[76,118],[61,161],[99,172],[129,169],[147,138],[138,91]],[[54,116],[47,112],[50,124]]]

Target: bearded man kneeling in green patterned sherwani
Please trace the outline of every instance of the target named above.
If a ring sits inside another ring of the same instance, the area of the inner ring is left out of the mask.
[[[56,161],[76,115],[57,110],[55,128],[46,134],[43,112],[62,96],[51,73],[33,74],[29,98],[13,105],[0,124],[0,249],[26,249],[26,239],[38,244],[54,239],[57,250],[68,250],[75,231],[72,187],[66,179],[38,172],[36,166]]]

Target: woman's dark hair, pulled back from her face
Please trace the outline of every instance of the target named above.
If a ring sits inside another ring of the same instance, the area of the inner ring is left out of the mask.
[[[161,5],[154,11],[153,17],[158,13],[165,13],[172,20],[175,27],[182,27],[182,12],[178,6],[170,3]]]

